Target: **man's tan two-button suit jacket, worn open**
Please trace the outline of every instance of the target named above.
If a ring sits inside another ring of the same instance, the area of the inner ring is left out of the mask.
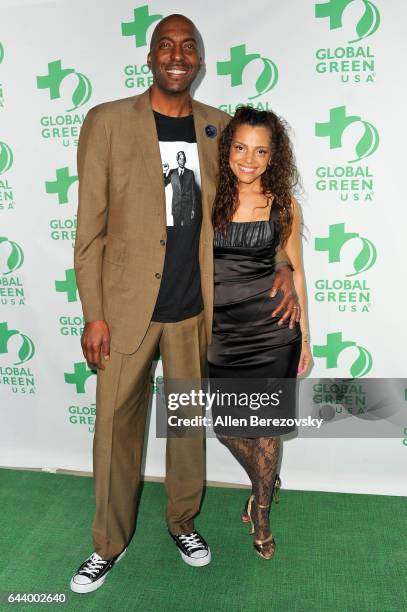
[[[213,310],[212,204],[226,113],[193,101],[202,183],[199,244],[208,342]],[[209,137],[205,128],[217,128]],[[106,320],[112,348],[131,354],[148,329],[166,245],[165,193],[149,91],[92,108],[78,145],[75,272],[86,321]]]

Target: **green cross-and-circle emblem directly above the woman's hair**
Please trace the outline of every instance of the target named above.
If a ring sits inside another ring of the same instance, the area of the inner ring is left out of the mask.
[[[260,53],[248,53],[245,44],[231,47],[229,59],[216,63],[217,74],[219,76],[229,76],[231,87],[243,85],[245,70],[252,63],[258,66],[258,77],[252,87],[253,95],[249,96],[249,100],[264,96],[276,86],[278,82],[276,64]]]

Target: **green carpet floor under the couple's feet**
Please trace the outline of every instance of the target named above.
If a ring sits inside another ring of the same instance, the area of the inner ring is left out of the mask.
[[[0,592],[64,592],[64,606],[1,610],[391,612],[406,610],[406,500],[281,492],[272,508],[273,560],[255,554],[239,521],[247,490],[208,488],[197,527],[213,561],[181,561],[164,523],[165,492],[146,483],[136,535],[104,586],[69,591],[92,552],[90,478],[0,470]]]

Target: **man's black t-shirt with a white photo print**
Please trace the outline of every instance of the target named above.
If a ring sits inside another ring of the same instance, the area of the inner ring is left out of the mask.
[[[167,245],[153,321],[194,317],[203,309],[199,269],[201,176],[193,115],[154,112],[165,186]]]

